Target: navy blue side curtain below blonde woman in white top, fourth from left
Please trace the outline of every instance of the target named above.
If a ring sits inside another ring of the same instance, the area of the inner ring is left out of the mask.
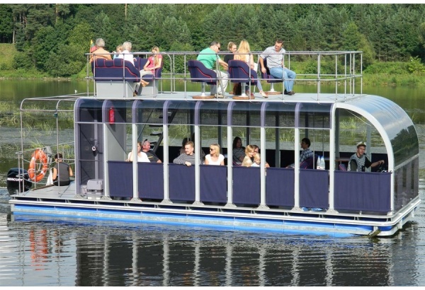
[[[200,166],[200,201],[227,202],[226,166]]]

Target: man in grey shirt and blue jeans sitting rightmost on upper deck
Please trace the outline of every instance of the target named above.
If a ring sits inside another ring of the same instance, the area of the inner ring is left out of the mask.
[[[285,83],[285,95],[294,95],[293,91],[295,74],[294,71],[287,69],[283,64],[283,54],[285,50],[283,49],[283,41],[276,40],[274,46],[267,47],[266,50],[260,54],[259,61],[261,66],[261,72],[266,73],[266,67],[264,67],[264,59],[267,59],[267,67],[270,71],[270,74],[277,79],[284,79]]]

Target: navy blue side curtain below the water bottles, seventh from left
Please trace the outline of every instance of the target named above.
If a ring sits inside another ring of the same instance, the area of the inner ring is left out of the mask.
[[[329,171],[300,169],[300,207],[329,208]]]

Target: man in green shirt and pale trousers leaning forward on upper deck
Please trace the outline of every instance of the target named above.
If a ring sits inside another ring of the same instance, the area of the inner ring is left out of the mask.
[[[217,64],[220,64],[224,69],[228,69],[228,65],[220,59],[218,56],[218,52],[220,52],[220,42],[213,41],[210,43],[210,47],[205,48],[205,50],[202,50],[199,52],[198,55],[198,61],[202,62],[207,69],[212,69],[217,73],[217,77],[220,80],[220,88],[221,90],[217,93],[217,86],[212,85],[211,86],[211,95],[215,95],[217,93],[218,98],[224,98],[225,91],[227,88],[227,83],[229,82],[229,74],[225,71],[220,71],[217,69]]]

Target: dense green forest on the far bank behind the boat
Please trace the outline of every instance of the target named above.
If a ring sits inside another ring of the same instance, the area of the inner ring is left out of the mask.
[[[110,52],[125,41],[198,52],[212,40],[225,52],[242,39],[263,51],[280,38],[290,52],[362,51],[365,84],[425,85],[423,4],[0,4],[0,77],[84,78],[98,37]],[[300,60],[298,74],[314,73]]]

